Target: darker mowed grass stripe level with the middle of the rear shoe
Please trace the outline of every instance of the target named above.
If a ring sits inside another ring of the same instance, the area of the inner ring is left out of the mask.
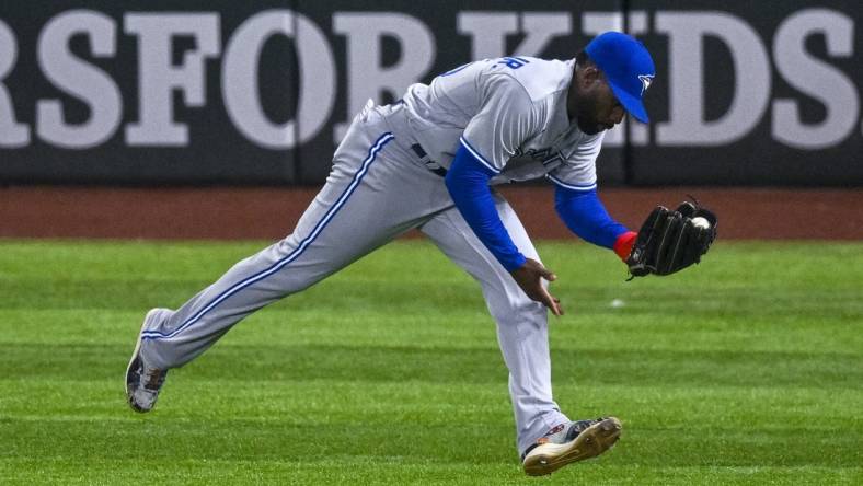
[[[15,356],[5,368],[21,378],[110,380],[124,363],[128,346],[0,345],[0,355]],[[506,379],[500,354],[487,348],[423,348],[416,346],[353,347],[331,345],[225,346],[214,350],[196,374],[225,381],[334,379],[364,381],[417,380],[485,383]],[[749,385],[849,387],[863,383],[859,356],[836,352],[670,351],[620,349],[555,349],[561,383],[584,383],[601,377],[606,383],[672,385]],[[218,362],[217,362],[218,361]],[[222,367],[220,363],[242,363]],[[649,366],[645,366],[649,363]],[[686,363],[681,367],[680,363]],[[81,373],[81,368],[94,370]]]

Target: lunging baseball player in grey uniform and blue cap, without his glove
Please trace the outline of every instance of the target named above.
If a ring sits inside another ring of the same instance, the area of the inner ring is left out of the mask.
[[[199,356],[252,312],[299,292],[411,229],[419,229],[482,287],[497,324],[525,471],[549,474],[608,450],[614,417],[571,420],[552,397],[548,312],[563,314],[518,216],[494,186],[546,177],[582,239],[624,261],[637,233],[597,197],[605,130],[655,74],[644,46],[621,33],[575,59],[485,59],[413,84],[398,103],[369,102],[335,151],[326,184],[292,234],[250,256],[177,310],[145,317],[126,372],[128,403],[152,409],[168,370]]]

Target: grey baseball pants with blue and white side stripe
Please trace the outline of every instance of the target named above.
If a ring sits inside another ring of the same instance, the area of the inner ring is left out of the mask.
[[[401,106],[367,106],[294,233],[239,262],[169,319],[146,328],[145,362],[160,369],[183,366],[252,312],[418,228],[482,287],[509,369],[519,453],[567,421],[552,398],[545,308],[521,291],[474,235],[442,177],[423,165],[412,143]],[[499,195],[495,199],[516,246],[539,261],[513,208]]]

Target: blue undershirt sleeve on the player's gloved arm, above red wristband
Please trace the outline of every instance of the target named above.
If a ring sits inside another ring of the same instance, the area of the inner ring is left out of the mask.
[[[573,233],[595,245],[612,248],[618,236],[629,231],[608,216],[596,189],[573,190],[557,186],[554,207]]]

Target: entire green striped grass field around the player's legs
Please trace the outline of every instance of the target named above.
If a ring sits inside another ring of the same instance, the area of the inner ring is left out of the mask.
[[[540,244],[557,402],[624,424],[543,478],[477,286],[417,241],[254,314],[133,413],[145,312],[263,245],[0,241],[0,484],[863,483],[863,244],[720,243],[631,282]]]

